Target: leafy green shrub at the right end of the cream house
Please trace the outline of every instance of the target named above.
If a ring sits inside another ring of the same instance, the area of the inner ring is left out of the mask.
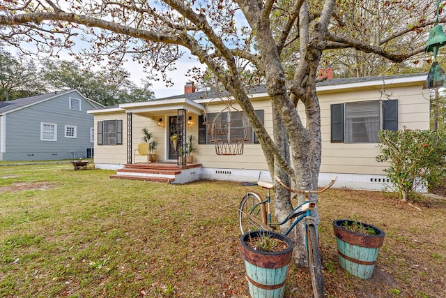
[[[378,162],[387,162],[387,178],[403,201],[417,189],[436,184],[446,177],[445,133],[410,130],[380,131]]]

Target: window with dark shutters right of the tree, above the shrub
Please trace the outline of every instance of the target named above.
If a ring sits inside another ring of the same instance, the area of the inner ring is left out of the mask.
[[[397,131],[398,100],[331,105],[331,142],[378,142],[381,129]]]

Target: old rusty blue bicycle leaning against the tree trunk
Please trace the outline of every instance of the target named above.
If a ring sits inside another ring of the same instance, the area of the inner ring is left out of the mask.
[[[299,204],[298,207],[295,207],[293,211],[291,211],[290,214],[280,223],[272,223],[270,190],[275,187],[275,184],[266,181],[258,181],[257,184],[262,188],[266,188],[267,190],[266,200],[262,200],[259,193],[256,193],[255,191],[249,191],[245,194],[240,202],[240,208],[238,209],[240,231],[242,234],[245,234],[245,232],[252,230],[275,230],[275,228],[278,228],[280,225],[283,225],[284,223],[287,223],[295,218],[290,228],[284,233],[286,236],[298,223],[300,223],[300,221],[304,220],[305,250],[309,271],[312,278],[314,298],[324,297],[321,256],[318,248],[318,238],[316,234],[316,226],[314,225],[314,217],[312,217],[312,209],[316,208],[316,202],[310,202],[308,197],[310,193],[323,193],[334,184],[334,181],[336,181],[337,178],[334,177],[332,181],[330,181],[330,184],[318,191],[295,190],[289,186],[286,186],[286,184],[284,184],[279,177],[275,177],[275,179],[291,193],[305,194],[305,202]]]

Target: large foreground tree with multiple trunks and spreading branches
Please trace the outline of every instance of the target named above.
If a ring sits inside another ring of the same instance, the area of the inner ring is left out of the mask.
[[[333,65],[337,57],[355,59],[358,53],[366,61],[382,57],[388,65],[422,57],[427,32],[435,24],[436,3],[15,0],[4,2],[0,9],[3,43],[21,47],[32,40],[39,54],[65,49],[84,64],[98,65],[107,59],[113,68],[132,54],[149,79],[160,73],[168,85],[172,82],[166,70],[175,68],[187,49],[242,107],[259,138],[271,177],[280,177],[294,188],[315,189],[322,146],[316,82],[321,67],[326,67],[323,62]],[[84,49],[74,46],[75,36],[87,42]],[[246,76],[246,70],[252,75]],[[272,134],[247,94],[257,82],[266,83],[271,99]],[[296,109],[298,103],[305,106],[306,123]],[[275,198],[280,220],[291,210],[291,199],[282,187],[275,188]],[[317,200],[316,196],[310,199]],[[317,220],[317,211],[315,216]],[[295,260],[302,264],[303,230],[290,237]]]

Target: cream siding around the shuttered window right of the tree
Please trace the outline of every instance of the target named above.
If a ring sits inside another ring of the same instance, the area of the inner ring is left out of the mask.
[[[398,129],[429,129],[429,100],[420,100],[421,86],[387,88],[389,99],[398,100]],[[386,165],[376,162],[377,143],[330,142],[330,105],[366,100],[386,100],[378,88],[318,94],[321,104],[322,159],[321,172],[339,174],[385,174]],[[305,113],[299,105],[300,114]]]

